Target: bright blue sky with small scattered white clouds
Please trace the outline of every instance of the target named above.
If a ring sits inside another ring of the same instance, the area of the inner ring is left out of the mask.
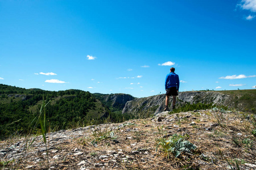
[[[253,89],[256,0],[1,1],[0,83],[145,97]]]

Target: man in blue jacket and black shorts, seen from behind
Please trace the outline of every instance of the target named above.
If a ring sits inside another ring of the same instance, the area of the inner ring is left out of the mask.
[[[169,97],[172,96],[172,104],[171,108],[175,108],[175,103],[176,103],[176,96],[177,92],[179,91],[180,87],[180,80],[179,80],[179,75],[174,73],[175,69],[174,67],[171,67],[170,73],[167,74],[166,76],[166,105],[164,106],[164,111],[168,111],[168,102],[169,102]]]

